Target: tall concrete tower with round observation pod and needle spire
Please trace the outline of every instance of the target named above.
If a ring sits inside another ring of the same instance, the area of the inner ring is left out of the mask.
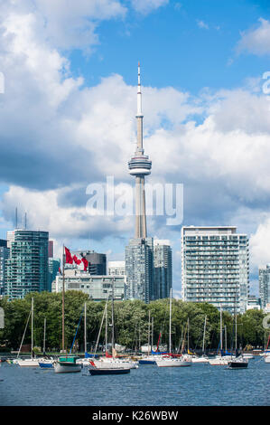
[[[135,175],[135,238],[146,238],[146,214],[144,175],[150,175],[152,161],[144,155],[143,146],[143,113],[140,62],[138,63],[138,91],[137,91],[137,146],[135,156],[128,162],[130,175]]]

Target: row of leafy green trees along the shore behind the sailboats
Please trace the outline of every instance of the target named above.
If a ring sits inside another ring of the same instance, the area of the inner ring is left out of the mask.
[[[46,351],[59,351],[61,349],[61,293],[33,292],[23,299],[8,301],[0,300],[0,307],[5,311],[5,328],[0,329],[1,350],[17,350],[21,344],[23,331],[31,311],[33,297],[33,344],[42,347],[44,318],[46,318]],[[84,346],[84,304],[87,303],[87,341],[88,347],[95,346],[98,339],[105,301],[89,300],[83,292],[70,290],[65,293],[65,337],[66,347],[69,350],[77,326],[76,336],[80,349]],[[107,306],[107,317],[110,323],[111,302]],[[152,317],[153,343],[157,344],[161,334],[160,345],[168,344],[169,339],[169,299],[160,299],[144,304],[139,300],[126,300],[114,302],[115,339],[119,345],[125,345],[135,350],[139,345],[148,343],[149,311]],[[187,342],[192,350],[200,350],[203,340],[204,320],[207,316],[205,346],[208,350],[219,347],[219,310],[208,303],[191,303],[172,299],[172,347],[177,349],[182,345],[182,340]],[[237,342],[243,348],[247,345],[265,345],[265,329],[263,319],[265,314],[258,310],[247,310],[243,315],[237,316]],[[187,323],[189,320],[189,332]],[[222,313],[223,326],[226,326],[228,349],[234,346],[235,318],[228,312]],[[109,326],[111,329],[111,326]],[[110,338],[110,332],[108,340]],[[187,335],[188,334],[188,335]],[[223,332],[224,335],[224,332]],[[103,326],[99,343],[105,341],[105,326]],[[31,344],[31,320],[25,333],[23,344]],[[185,344],[187,347],[187,343]],[[223,341],[223,347],[225,341]]]

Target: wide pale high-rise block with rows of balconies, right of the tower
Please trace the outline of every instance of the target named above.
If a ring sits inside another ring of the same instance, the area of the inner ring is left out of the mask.
[[[237,227],[182,227],[182,299],[247,310],[249,250]]]

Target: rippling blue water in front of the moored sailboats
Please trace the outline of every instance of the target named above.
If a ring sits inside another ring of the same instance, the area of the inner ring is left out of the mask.
[[[124,375],[91,376],[0,366],[1,406],[269,406],[270,364],[247,369],[192,364],[140,365]],[[2,381],[3,380],[3,381]]]

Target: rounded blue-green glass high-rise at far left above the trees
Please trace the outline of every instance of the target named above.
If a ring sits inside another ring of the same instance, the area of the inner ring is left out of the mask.
[[[48,290],[48,231],[16,229],[9,232],[5,295],[23,298],[28,292]]]

